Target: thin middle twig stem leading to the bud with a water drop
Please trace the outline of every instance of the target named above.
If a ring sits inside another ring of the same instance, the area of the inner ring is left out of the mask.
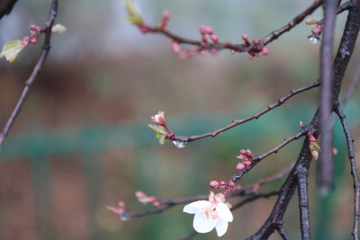
[[[196,136],[190,136],[190,137],[184,137],[184,136],[175,136],[174,139],[175,140],[179,140],[179,141],[184,141],[184,142],[191,142],[194,140],[198,140],[198,139],[202,139],[202,138],[209,138],[209,137],[216,137],[217,135],[219,135],[220,133],[228,130],[228,129],[232,129],[238,125],[241,125],[249,120],[257,120],[259,117],[261,117],[262,115],[264,115],[266,112],[268,111],[272,111],[275,108],[281,106],[284,102],[286,102],[287,100],[289,100],[290,98],[292,98],[293,96],[295,96],[298,93],[302,93],[305,91],[308,91],[314,87],[318,87],[320,86],[320,80],[317,80],[314,83],[311,83],[309,85],[305,85],[302,86],[300,88],[297,89],[293,89],[292,91],[290,91],[289,94],[285,95],[284,97],[281,97],[277,100],[277,102],[274,102],[270,105],[268,105],[265,109],[261,110],[261,111],[257,111],[257,113],[255,113],[254,115],[251,115],[245,119],[241,119],[241,120],[233,120],[231,124],[229,124],[228,126],[225,126],[221,129],[217,129],[214,131],[211,131],[209,133],[205,133],[202,135],[196,135]]]

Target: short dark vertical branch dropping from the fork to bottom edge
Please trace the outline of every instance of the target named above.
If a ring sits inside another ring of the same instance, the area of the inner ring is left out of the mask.
[[[298,169],[298,192],[300,209],[300,226],[302,239],[311,239],[310,214],[309,214],[309,191],[308,191],[308,169],[301,166]]]

